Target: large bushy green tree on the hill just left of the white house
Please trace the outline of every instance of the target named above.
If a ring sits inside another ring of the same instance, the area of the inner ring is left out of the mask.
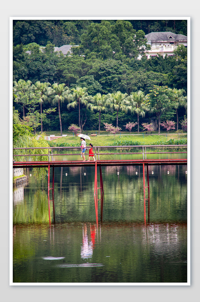
[[[91,23],[87,32],[82,34],[81,43],[76,50],[86,58],[137,59],[142,56],[149,45],[142,30],[136,31],[126,20],[101,20]]]

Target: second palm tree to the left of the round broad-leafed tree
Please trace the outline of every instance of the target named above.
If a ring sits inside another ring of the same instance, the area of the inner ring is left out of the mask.
[[[117,125],[118,127],[118,112],[125,111],[127,112],[127,106],[130,104],[127,100],[127,93],[122,93],[121,91],[117,91],[115,93],[109,93],[108,99],[106,100],[105,105],[117,111]]]

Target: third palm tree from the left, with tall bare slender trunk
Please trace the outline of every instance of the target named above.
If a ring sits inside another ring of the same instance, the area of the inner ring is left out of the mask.
[[[53,99],[52,100],[53,104],[58,104],[58,113],[60,119],[60,135],[63,135],[62,122],[60,116],[60,104],[62,104],[67,99],[67,95],[69,94],[70,90],[68,86],[65,87],[64,83],[62,84],[54,83],[47,90],[48,90],[47,96]]]

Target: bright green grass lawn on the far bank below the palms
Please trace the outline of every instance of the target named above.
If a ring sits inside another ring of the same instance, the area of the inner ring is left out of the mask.
[[[60,132],[45,132],[47,136],[49,136],[50,134],[55,134],[55,136],[60,136]],[[91,135],[91,133],[96,134],[96,131],[84,131],[84,134],[88,133],[88,136]],[[67,134],[67,137],[61,137],[58,138],[56,140],[52,140],[52,142],[56,142],[56,143],[79,143],[81,144],[81,140],[79,137],[73,137],[73,133],[71,132],[67,132],[67,131],[63,131],[63,134]],[[92,137],[90,136],[91,140],[86,140],[86,144],[87,146],[89,146],[89,143],[92,143],[93,146],[106,146],[106,145],[112,145],[112,143],[116,140],[131,140],[131,141],[137,141],[143,145],[151,145],[153,143],[156,143],[157,141],[163,141],[165,143],[165,141],[170,140],[170,139],[186,139],[187,138],[187,133],[183,133],[180,134],[180,137],[177,133],[169,133],[166,134],[166,132],[162,132],[160,135],[158,135],[158,132],[153,132],[152,134],[146,134],[146,131],[144,131],[143,133],[139,133],[137,134],[137,132],[131,132],[131,135],[129,135],[128,132],[121,132],[121,134],[116,134],[115,138],[114,135],[107,134],[106,131],[100,131],[100,135],[97,134],[97,136]]]

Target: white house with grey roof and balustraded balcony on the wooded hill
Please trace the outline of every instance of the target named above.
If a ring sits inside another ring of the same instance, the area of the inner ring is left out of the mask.
[[[174,55],[174,50],[177,46],[183,44],[187,47],[187,36],[181,34],[174,34],[171,31],[152,32],[145,35],[147,43],[150,44],[151,49],[146,52],[149,59],[150,56],[157,56],[158,54],[163,57]]]

